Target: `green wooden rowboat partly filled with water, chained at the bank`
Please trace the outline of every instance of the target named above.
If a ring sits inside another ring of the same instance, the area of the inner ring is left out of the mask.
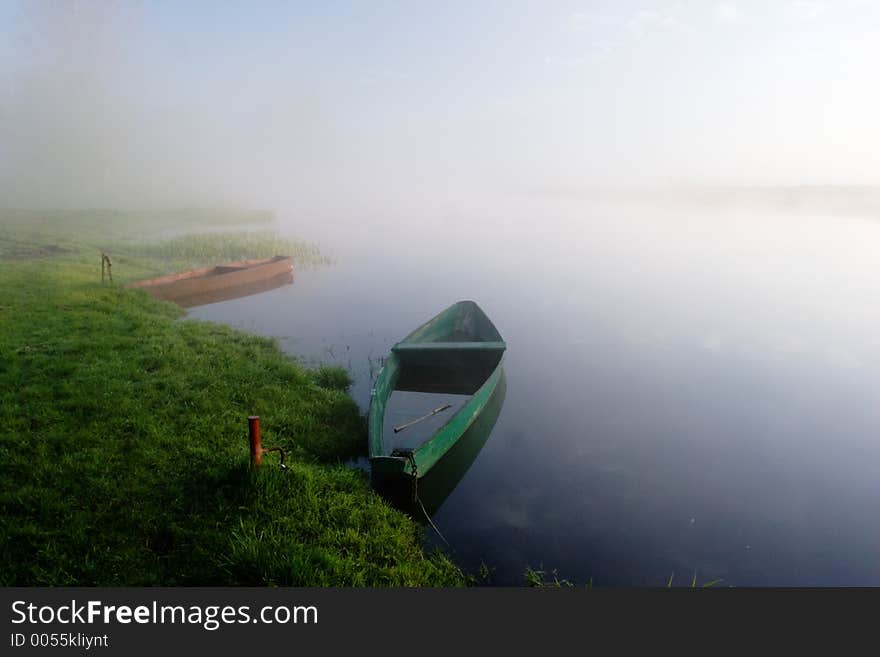
[[[492,398],[503,375],[506,348],[498,329],[473,301],[453,304],[394,345],[370,395],[370,465],[375,483],[421,478],[443,458]],[[468,397],[430,436],[401,448],[385,438],[386,409],[394,391]]]

